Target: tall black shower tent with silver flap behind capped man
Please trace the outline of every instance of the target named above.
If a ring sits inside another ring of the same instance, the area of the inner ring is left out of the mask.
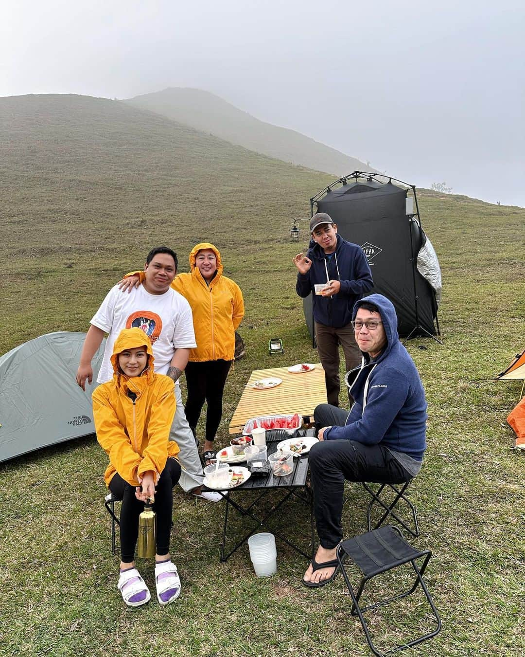
[[[415,188],[398,187],[392,179],[386,177],[387,182],[382,182],[380,178],[354,171],[335,181],[310,200],[312,215],[326,212],[343,238],[362,247],[372,271],[373,292],[384,294],[394,304],[400,336],[434,335],[438,332],[434,319],[441,275],[435,252],[421,228],[417,198],[413,214],[406,214],[408,191],[411,189],[415,197]],[[310,334],[311,308],[310,297],[305,300]]]

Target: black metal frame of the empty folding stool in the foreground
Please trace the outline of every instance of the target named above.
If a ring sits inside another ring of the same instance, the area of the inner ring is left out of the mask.
[[[403,535],[398,530],[398,528],[394,526],[390,526],[392,530],[395,530],[400,537],[403,539]],[[404,539],[403,539],[404,540]],[[406,541],[405,541],[406,542]],[[404,650],[405,648],[411,648],[412,646],[417,645],[418,643],[422,643],[423,641],[426,641],[427,639],[431,639],[432,637],[435,637],[436,634],[441,630],[442,623],[440,616],[438,614],[438,610],[436,609],[436,606],[434,605],[434,601],[432,600],[431,594],[429,592],[429,589],[427,589],[427,585],[423,581],[423,574],[425,573],[425,570],[427,569],[427,565],[429,564],[429,561],[432,556],[431,550],[423,550],[421,552],[413,552],[408,558],[401,558],[395,561],[392,561],[388,564],[384,564],[383,566],[377,568],[377,570],[374,570],[373,572],[369,572],[366,574],[359,583],[359,587],[357,590],[357,593],[354,591],[354,588],[352,587],[352,584],[350,583],[350,579],[348,578],[347,570],[345,568],[345,561],[347,560],[348,557],[350,557],[350,560],[352,560],[352,557],[348,555],[345,552],[345,549],[343,547],[343,543],[340,543],[339,546],[337,547],[337,561],[339,562],[339,567],[341,568],[341,572],[343,573],[343,578],[345,578],[345,583],[348,588],[348,592],[350,593],[350,597],[352,597],[352,608],[350,610],[350,614],[352,616],[358,616],[361,625],[363,627],[366,640],[368,641],[368,645],[373,652],[373,654],[377,655],[378,657],[384,657],[387,654],[390,654],[392,652],[398,652],[400,650]],[[408,546],[408,543],[407,543]],[[411,547],[411,546],[408,546]],[[423,557],[423,563],[421,564],[420,567],[417,566],[416,560],[419,558]],[[398,566],[403,566],[404,564],[408,564],[410,562],[414,572],[415,572],[415,581],[412,585],[412,587],[408,591],[404,591],[404,593],[398,593],[397,595],[392,595],[392,597],[387,598],[385,600],[379,600],[379,602],[374,602],[373,604],[369,604],[366,607],[361,608],[359,606],[359,600],[361,598],[361,595],[364,591],[364,587],[366,583],[370,580],[375,578],[378,575],[381,575],[389,570],[392,570],[393,568],[398,568]],[[417,589],[418,586],[421,586],[421,589],[423,590],[423,593],[425,593],[425,597],[427,598],[427,602],[429,603],[429,606],[431,607],[432,610],[432,615],[434,616],[434,620],[436,621],[436,627],[434,630],[431,632],[421,635],[417,639],[412,639],[411,641],[407,641],[406,643],[403,643],[402,645],[395,646],[394,648],[390,648],[386,652],[379,652],[375,644],[373,643],[371,639],[371,635],[368,629],[368,625],[366,623],[366,619],[364,618],[364,613],[368,612],[372,609],[377,609],[381,606],[385,606],[386,604],[389,604],[390,602],[393,602],[394,600],[401,600],[403,598],[408,597],[414,591]]]

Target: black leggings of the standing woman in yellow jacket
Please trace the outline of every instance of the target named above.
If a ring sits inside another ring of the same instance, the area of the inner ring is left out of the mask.
[[[222,393],[232,361],[203,361],[188,363],[184,373],[188,399],[184,406],[186,420],[195,432],[204,401],[207,402],[205,440],[213,441],[222,417]]]

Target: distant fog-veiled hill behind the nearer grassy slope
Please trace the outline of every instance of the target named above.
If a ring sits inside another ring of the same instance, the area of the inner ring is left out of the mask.
[[[295,130],[260,121],[201,89],[169,88],[126,102],[284,162],[337,176],[356,170],[376,171]]]

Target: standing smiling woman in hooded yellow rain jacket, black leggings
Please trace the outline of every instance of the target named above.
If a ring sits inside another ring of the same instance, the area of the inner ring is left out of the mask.
[[[215,458],[213,440],[222,418],[222,394],[234,361],[235,332],[244,315],[240,287],[222,274],[219,249],[200,242],[190,253],[191,273],[175,277],[171,286],[192,307],[197,347],[186,365],[188,398],[184,413],[196,431],[204,401],[207,402],[203,458]]]

